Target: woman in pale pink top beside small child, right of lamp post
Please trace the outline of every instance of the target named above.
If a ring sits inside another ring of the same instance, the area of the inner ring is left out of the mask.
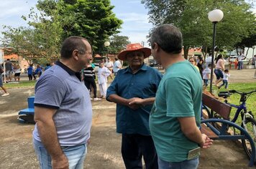
[[[223,71],[224,71],[224,60],[222,54],[219,54],[216,59],[216,67],[214,69],[214,74],[216,75],[215,86],[218,87],[219,82],[223,79]]]

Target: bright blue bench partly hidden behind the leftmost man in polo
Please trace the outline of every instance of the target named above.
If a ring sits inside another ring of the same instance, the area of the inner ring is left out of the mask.
[[[35,96],[27,97],[27,109],[23,109],[19,111],[18,119],[21,123],[34,123],[34,107]]]

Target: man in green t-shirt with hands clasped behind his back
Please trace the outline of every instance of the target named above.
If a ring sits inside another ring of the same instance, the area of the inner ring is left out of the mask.
[[[182,34],[163,24],[152,32],[153,57],[166,72],[150,113],[150,132],[158,155],[159,168],[197,168],[199,148],[212,140],[200,127],[202,80],[198,70],[181,54]]]

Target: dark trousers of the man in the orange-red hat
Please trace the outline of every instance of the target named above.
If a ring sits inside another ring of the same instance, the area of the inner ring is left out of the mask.
[[[157,169],[157,153],[151,136],[122,134],[122,157],[127,169],[142,168],[142,156],[146,169]]]

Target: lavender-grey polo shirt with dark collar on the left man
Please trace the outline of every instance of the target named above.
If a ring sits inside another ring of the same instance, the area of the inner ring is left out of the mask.
[[[87,143],[93,112],[90,94],[78,72],[57,62],[38,79],[34,104],[57,110],[53,121],[61,146]],[[35,140],[41,141],[37,125],[33,136]]]

